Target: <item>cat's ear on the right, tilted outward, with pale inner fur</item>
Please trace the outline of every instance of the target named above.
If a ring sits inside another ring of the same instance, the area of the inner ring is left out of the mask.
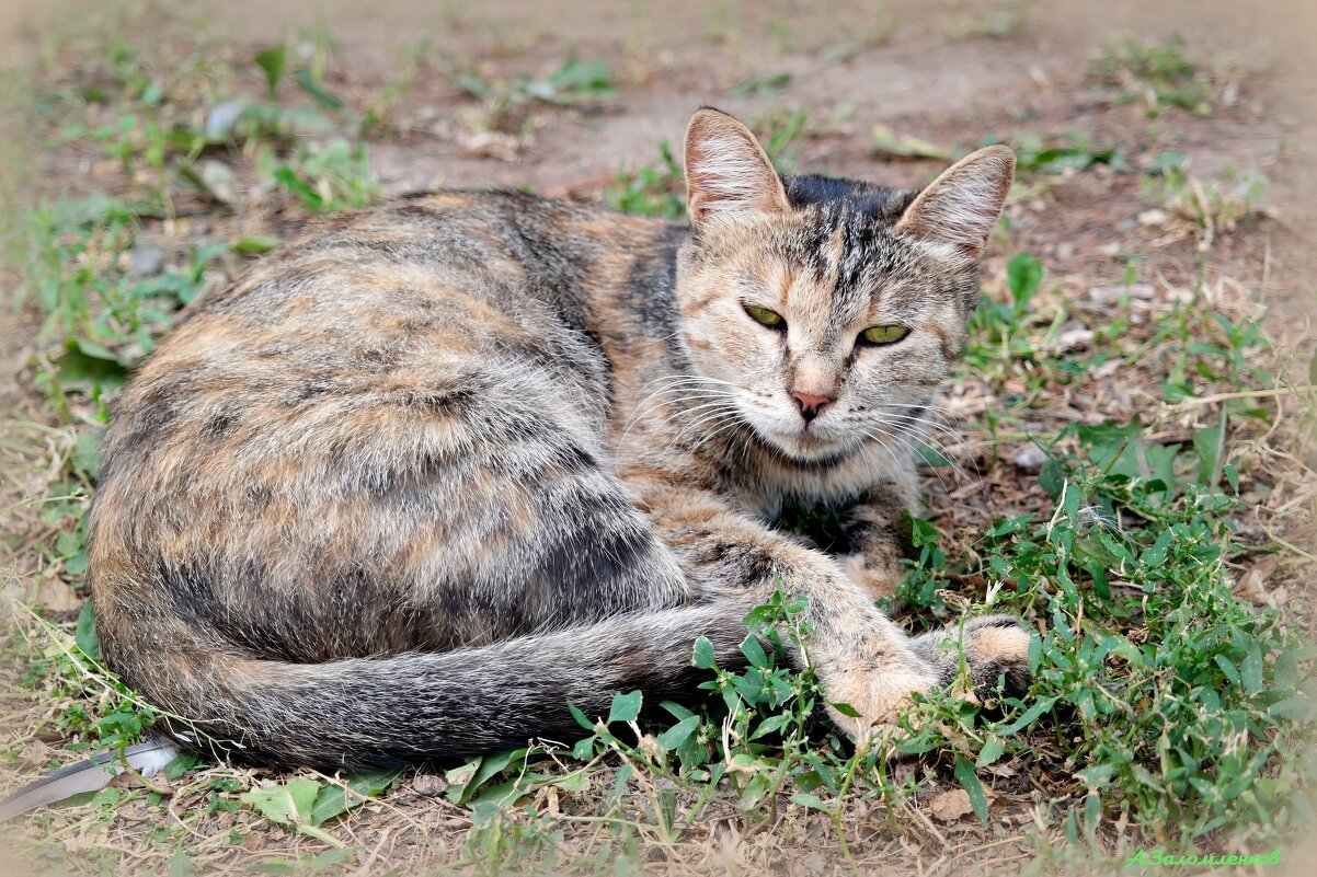
[[[956,246],[971,258],[982,254],[1015,178],[1015,153],[985,146],[948,167],[919,192],[896,230]]]

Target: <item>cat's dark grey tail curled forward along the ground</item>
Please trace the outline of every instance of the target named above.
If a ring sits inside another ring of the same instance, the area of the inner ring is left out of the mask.
[[[481,648],[325,664],[284,664],[223,652],[155,653],[122,666],[129,685],[188,723],[170,724],[190,749],[224,749],[266,765],[321,768],[461,758],[541,737],[583,736],[568,704],[591,720],[614,694],[647,704],[689,698],[709,670],[693,665],[705,636],[719,666],[744,665],[752,598],[620,615],[587,627]]]

